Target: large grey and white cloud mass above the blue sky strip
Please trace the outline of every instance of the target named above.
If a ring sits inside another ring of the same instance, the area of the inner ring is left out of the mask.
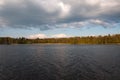
[[[120,0],[0,0],[0,27],[81,28],[120,23]]]

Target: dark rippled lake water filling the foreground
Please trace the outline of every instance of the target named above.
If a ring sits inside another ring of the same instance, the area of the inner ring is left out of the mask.
[[[120,45],[0,45],[0,80],[120,80]]]

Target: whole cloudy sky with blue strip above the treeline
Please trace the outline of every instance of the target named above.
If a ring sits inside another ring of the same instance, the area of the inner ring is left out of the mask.
[[[0,0],[0,37],[120,34],[120,0]]]

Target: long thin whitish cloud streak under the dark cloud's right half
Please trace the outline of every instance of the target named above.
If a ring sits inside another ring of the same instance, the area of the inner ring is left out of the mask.
[[[114,23],[112,21],[107,22],[102,19],[88,19],[84,21],[78,21],[78,22],[71,22],[71,23],[61,23],[61,24],[53,24],[53,25],[45,25],[43,26],[43,29],[47,27],[48,29],[54,29],[54,28],[83,28],[83,27],[104,27],[104,28],[112,28],[117,26],[118,23]]]

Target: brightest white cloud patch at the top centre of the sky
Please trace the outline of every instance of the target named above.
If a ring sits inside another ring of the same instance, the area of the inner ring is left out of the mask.
[[[34,2],[48,13],[60,12],[60,17],[65,17],[70,11],[70,5],[63,3],[62,0],[34,0]]]

